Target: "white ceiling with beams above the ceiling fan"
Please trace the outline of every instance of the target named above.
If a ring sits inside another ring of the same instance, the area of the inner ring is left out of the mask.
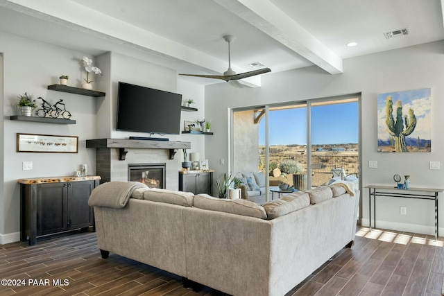
[[[273,72],[444,40],[444,0],[0,0],[0,30],[99,55],[158,62],[180,73]],[[384,33],[409,28],[391,40]],[[354,47],[345,46],[357,42]],[[444,53],[444,52],[443,52]],[[267,74],[264,74],[267,75]],[[219,82],[183,78],[196,83]],[[251,83],[259,85],[259,77]]]

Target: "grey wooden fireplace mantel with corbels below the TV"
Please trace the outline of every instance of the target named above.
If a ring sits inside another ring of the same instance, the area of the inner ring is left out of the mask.
[[[174,159],[178,149],[190,149],[191,142],[182,141],[151,141],[133,139],[91,139],[86,140],[86,148],[118,148],[120,160],[125,160],[128,148],[168,149],[169,159]]]

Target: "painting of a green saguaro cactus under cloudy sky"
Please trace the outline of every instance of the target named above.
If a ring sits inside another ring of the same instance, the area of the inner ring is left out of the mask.
[[[377,95],[377,151],[431,152],[430,89]]]

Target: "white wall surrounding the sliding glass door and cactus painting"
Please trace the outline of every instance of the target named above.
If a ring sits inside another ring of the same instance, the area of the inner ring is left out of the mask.
[[[330,75],[318,67],[307,67],[262,76],[262,87],[236,89],[228,84],[205,88],[205,116],[214,118],[214,140],[205,141],[210,163],[217,162],[215,175],[228,172],[229,108],[266,103],[305,101],[361,92],[362,184],[394,185],[393,175],[411,175],[411,186],[444,188],[444,171],[429,170],[429,161],[444,160],[444,42],[433,42],[344,60],[344,72]],[[273,69],[272,69],[273,70]],[[377,153],[377,94],[430,87],[432,89],[432,153]],[[326,127],[332,128],[332,127]],[[377,160],[378,168],[368,168]],[[362,193],[363,225],[368,225],[368,190]],[[400,215],[400,206],[407,215]],[[439,210],[444,209],[441,202]],[[377,198],[378,227],[434,234],[434,202],[400,198]],[[444,218],[440,218],[444,225]],[[443,228],[444,229],[444,228]],[[441,229],[441,233],[443,231]]]

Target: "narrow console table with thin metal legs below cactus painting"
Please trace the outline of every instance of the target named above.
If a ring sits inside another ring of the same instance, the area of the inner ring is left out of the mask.
[[[376,197],[388,196],[392,198],[415,198],[420,200],[434,200],[435,201],[435,240],[438,240],[438,193],[442,193],[444,189],[432,188],[410,188],[397,189],[393,186],[384,185],[367,185],[368,188],[368,221],[370,225],[370,232],[372,230],[372,199],[373,196],[373,220],[375,220],[376,228]],[[417,193],[412,193],[417,192]]]

